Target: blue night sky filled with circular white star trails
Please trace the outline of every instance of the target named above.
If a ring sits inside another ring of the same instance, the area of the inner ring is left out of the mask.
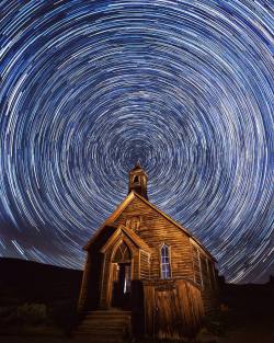
[[[139,160],[227,281],[267,279],[273,8],[1,0],[0,255],[82,267]]]

